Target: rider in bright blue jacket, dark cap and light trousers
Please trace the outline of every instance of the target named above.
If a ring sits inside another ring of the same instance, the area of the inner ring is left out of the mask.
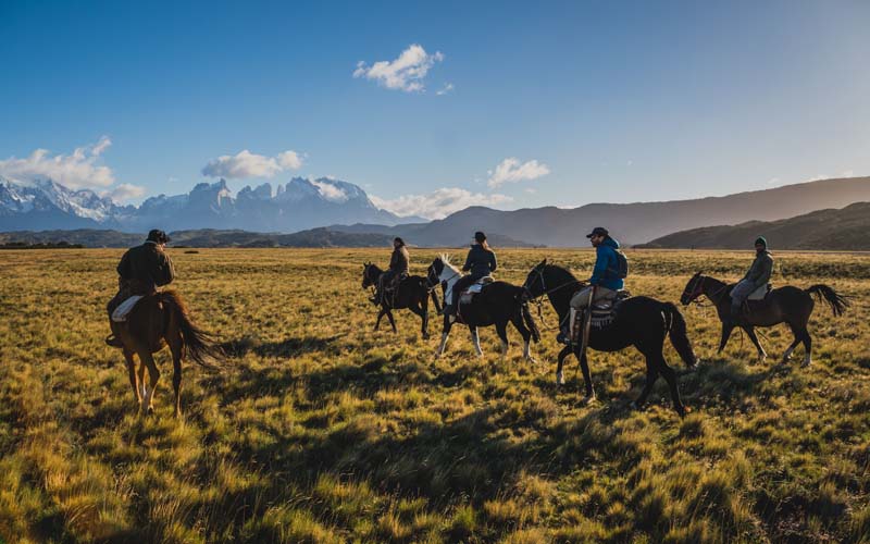
[[[595,302],[616,298],[617,292],[623,288],[625,283],[620,273],[621,267],[617,256],[619,242],[613,239],[607,228],[601,226],[593,228],[586,237],[595,248],[595,267],[592,277],[589,277],[589,284],[571,298],[568,326],[562,327],[558,338],[562,343],[568,343],[570,338],[574,337],[574,321],[577,312]]]

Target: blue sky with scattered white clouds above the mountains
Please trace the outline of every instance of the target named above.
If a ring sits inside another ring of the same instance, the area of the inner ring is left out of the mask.
[[[869,25],[863,0],[0,0],[0,174],[134,202],[334,176],[428,217],[868,175]]]

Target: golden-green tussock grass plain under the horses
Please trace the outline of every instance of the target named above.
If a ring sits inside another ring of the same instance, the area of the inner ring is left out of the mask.
[[[680,420],[663,381],[632,410],[638,354],[592,356],[599,400],[555,386],[558,346],[537,364],[486,357],[456,329],[447,355],[371,331],[361,263],[387,250],[170,249],[195,319],[226,368],[185,367],[183,421],[171,364],[156,416],[139,419],[103,306],[119,250],[0,252],[0,541],[7,542],[858,542],[870,537],[870,256],[778,255],[776,283],[853,295],[817,305],[815,362],[780,364],[791,336],[714,354],[710,310],[684,309],[704,360],[681,375]],[[422,273],[434,250],[412,251]],[[630,288],[676,301],[696,270],[736,279],[751,255],[632,251]],[[547,256],[589,270],[592,254],[504,250],[520,283]],[[552,325],[547,308],[543,325]],[[542,324],[542,323],[539,323]],[[668,346],[668,359],[680,370]]]

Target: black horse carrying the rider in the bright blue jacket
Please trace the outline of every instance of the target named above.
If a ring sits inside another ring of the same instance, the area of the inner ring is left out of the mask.
[[[547,259],[544,259],[529,272],[522,288],[525,289],[530,300],[546,295],[559,316],[559,323],[562,324],[569,319],[571,297],[583,286],[585,286],[585,282],[574,277],[570,271],[556,264],[549,264]],[[619,302],[616,317],[610,325],[601,329],[593,327],[589,331],[588,347],[596,351],[620,351],[629,346],[637,348],[646,359],[646,384],[641,396],[634,403],[635,407],[641,408],[646,403],[652,391],[652,384],[661,375],[671,390],[674,410],[683,417],[686,408],[680,399],[676,373],[664,360],[662,354],[666,336],[670,337],[671,345],[676,349],[683,362],[688,368],[694,368],[697,358],[686,335],[686,322],[676,306],[650,297],[636,296]],[[559,354],[556,382],[558,385],[564,383],[562,363],[571,353],[580,360],[580,367],[583,370],[583,380],[586,386],[583,401],[591,404],[595,400],[595,390],[586,354],[580,354],[579,345],[566,346]]]

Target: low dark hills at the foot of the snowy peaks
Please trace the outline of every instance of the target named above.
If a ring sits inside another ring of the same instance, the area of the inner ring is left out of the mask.
[[[174,247],[386,247],[391,239],[384,234],[352,234],[324,227],[293,234],[201,228],[171,232],[170,237],[172,238],[170,245]],[[0,246],[66,243],[84,247],[133,247],[144,240],[142,234],[104,228],[0,233]]]

